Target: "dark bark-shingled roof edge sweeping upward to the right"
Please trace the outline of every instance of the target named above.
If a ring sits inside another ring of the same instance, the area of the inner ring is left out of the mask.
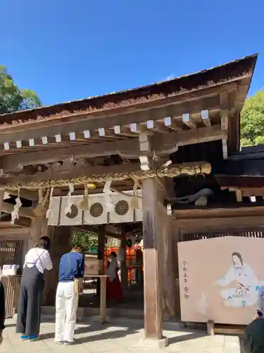
[[[220,66],[198,71],[178,78],[172,78],[151,85],[106,95],[87,97],[82,100],[63,102],[45,107],[27,109],[20,112],[1,114],[0,127],[17,126],[25,121],[42,121],[75,116],[102,110],[126,107],[151,100],[160,100],[175,93],[183,95],[187,92],[204,90],[223,83],[232,82],[239,77],[253,73],[258,54],[245,56],[242,59],[230,61]]]

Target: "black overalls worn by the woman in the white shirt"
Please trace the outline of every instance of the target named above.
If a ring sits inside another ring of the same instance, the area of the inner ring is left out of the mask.
[[[26,336],[39,335],[44,275],[36,266],[23,270],[18,303],[16,332]]]

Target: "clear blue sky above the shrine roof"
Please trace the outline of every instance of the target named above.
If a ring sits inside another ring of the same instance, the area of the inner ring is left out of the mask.
[[[44,104],[134,88],[259,52],[263,0],[8,0],[0,64]]]

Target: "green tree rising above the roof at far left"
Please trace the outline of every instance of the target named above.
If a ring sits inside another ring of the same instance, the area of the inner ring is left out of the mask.
[[[35,108],[40,105],[37,93],[32,90],[19,89],[12,76],[6,71],[6,66],[0,65],[0,114]]]

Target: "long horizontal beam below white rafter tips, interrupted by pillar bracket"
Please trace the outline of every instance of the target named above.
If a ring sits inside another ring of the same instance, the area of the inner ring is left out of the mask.
[[[220,140],[227,137],[227,131],[222,131],[219,125],[210,128],[198,128],[196,130],[169,133],[163,138],[153,136],[153,150],[156,155],[170,154],[178,145],[190,145],[203,143],[210,140]],[[44,164],[60,160],[68,160],[71,156],[101,157],[109,155],[121,155],[122,157],[137,159],[141,155],[137,139],[127,140],[125,143],[114,141],[94,145],[82,145],[74,148],[59,148],[43,152],[28,152],[23,155],[6,156],[1,159],[1,169],[11,171],[18,165]]]

